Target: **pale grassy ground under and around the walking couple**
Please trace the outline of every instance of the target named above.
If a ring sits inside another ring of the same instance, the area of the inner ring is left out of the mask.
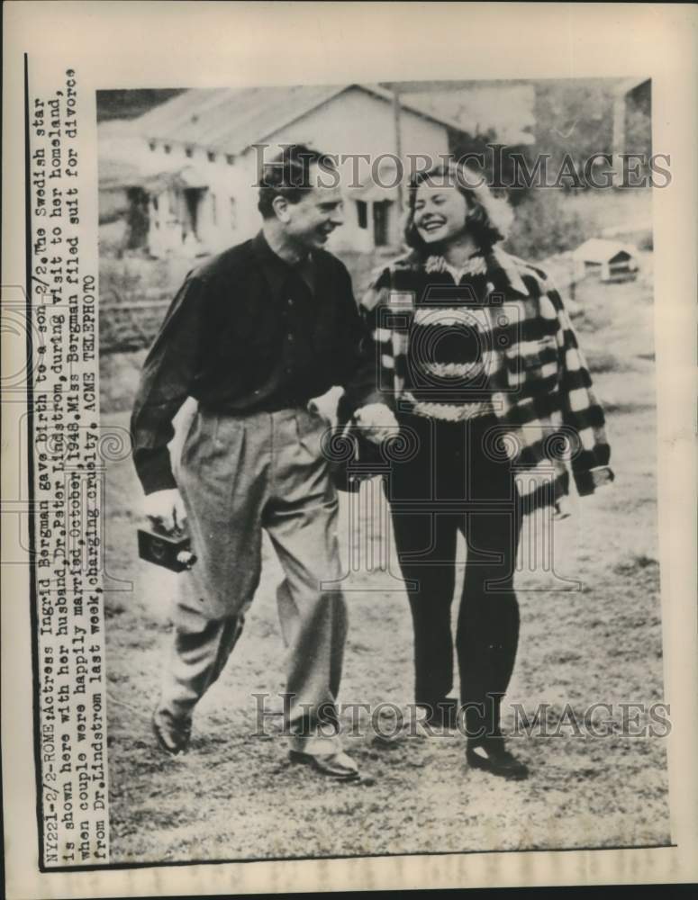
[[[139,487],[130,458],[109,464],[105,604],[113,862],[670,841],[666,742],[618,728],[594,738],[584,726],[575,734],[570,725],[572,716],[583,724],[593,703],[612,705],[606,717],[619,724],[620,704],[648,707],[663,698],[651,255],[644,265],[645,274],[633,284],[587,280],[577,287],[576,326],[607,410],[616,481],[576,500],[572,518],[557,523],[554,572],[544,571],[540,557],[531,564],[540,534],[525,536],[521,547],[521,644],[507,701],[529,713],[548,704],[548,736],[539,729],[510,741],[530,766],[527,781],[469,770],[458,733],[424,736],[408,729],[399,741],[385,742],[365,721],[360,734],[349,734],[349,716],[343,719],[346,745],[364,774],[358,784],[338,786],[287,761],[278,716],[268,716],[267,734],[259,734],[253,697],[267,692],[267,709],[276,712],[284,689],[275,602],[280,571],[267,545],[245,633],[197,707],[191,751],[174,760],[164,756],[150,734],[150,710],[177,576],[136,559]],[[127,428],[123,401],[141,358],[104,357],[104,427]],[[373,520],[367,500],[364,493],[365,525]],[[345,561],[348,509],[343,498]],[[374,559],[380,540],[376,533],[367,541]],[[347,587],[350,631],[340,699],[389,701],[402,709],[412,699],[405,595],[389,573],[367,571],[366,562],[351,573]],[[570,588],[576,590],[562,590]],[[639,719],[648,724],[646,714]],[[390,725],[381,718],[384,730]],[[510,731],[514,726],[511,707],[504,725]]]

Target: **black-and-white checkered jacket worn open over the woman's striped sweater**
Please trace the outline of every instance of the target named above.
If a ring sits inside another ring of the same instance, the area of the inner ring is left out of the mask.
[[[522,508],[553,505],[611,482],[603,410],[560,295],[548,276],[499,248],[485,257],[484,369],[496,417],[486,452],[512,464]],[[405,376],[415,311],[431,289],[455,289],[441,257],[413,253],[376,274],[360,309],[367,324],[364,363],[348,387],[342,420],[359,406],[410,409]],[[429,407],[426,407],[429,409]],[[436,409],[436,407],[435,407]],[[436,416],[438,417],[438,414]]]

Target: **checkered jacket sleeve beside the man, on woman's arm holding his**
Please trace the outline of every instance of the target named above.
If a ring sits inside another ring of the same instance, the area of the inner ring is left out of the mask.
[[[389,328],[390,271],[377,274],[359,303],[363,340],[358,365],[346,385],[345,417],[368,403],[385,403],[393,408],[394,347]]]

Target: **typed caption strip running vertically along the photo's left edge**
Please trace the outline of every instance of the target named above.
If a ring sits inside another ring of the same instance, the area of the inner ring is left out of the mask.
[[[94,97],[28,60],[27,435],[42,869],[109,862]]]

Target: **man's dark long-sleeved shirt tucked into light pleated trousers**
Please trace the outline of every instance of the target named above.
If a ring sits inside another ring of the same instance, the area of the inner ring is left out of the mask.
[[[131,418],[144,491],[176,486],[167,445],[187,397],[232,415],[304,405],[349,381],[363,335],[349,273],[324,250],[290,266],[260,231],[190,272],[146,358]]]

